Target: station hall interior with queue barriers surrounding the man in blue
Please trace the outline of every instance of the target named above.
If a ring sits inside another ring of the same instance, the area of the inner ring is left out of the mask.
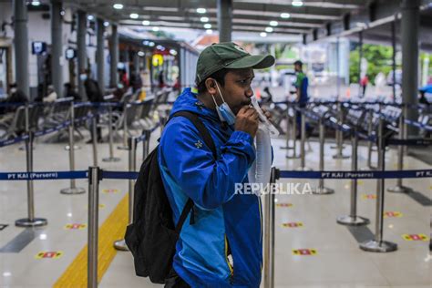
[[[137,172],[225,42],[275,58],[261,287],[432,287],[431,0],[2,0],[0,24],[0,287],[162,287],[124,240]]]

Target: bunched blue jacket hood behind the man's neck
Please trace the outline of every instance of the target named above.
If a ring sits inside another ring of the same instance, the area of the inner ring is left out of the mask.
[[[197,98],[197,94],[191,91],[190,87],[185,88],[183,92],[181,92],[179,98],[176,99],[170,112],[170,116],[178,111],[190,111],[204,118],[211,118],[220,121],[216,111],[206,108]]]

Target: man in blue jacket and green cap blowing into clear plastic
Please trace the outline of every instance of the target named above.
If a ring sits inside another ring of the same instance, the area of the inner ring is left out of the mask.
[[[252,56],[234,43],[208,46],[198,58],[198,90],[186,88],[174,103],[171,115],[199,115],[218,157],[187,118],[172,118],[162,133],[159,167],[175,223],[188,198],[194,202],[194,222],[184,222],[166,287],[260,286],[261,201],[236,194],[235,183],[248,182],[255,159],[253,69],[273,63],[272,56]]]

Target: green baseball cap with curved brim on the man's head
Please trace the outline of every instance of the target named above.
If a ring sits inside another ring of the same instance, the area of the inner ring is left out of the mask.
[[[216,71],[223,68],[263,69],[274,64],[271,55],[251,55],[242,46],[232,42],[214,43],[202,50],[197,62],[197,86]]]

